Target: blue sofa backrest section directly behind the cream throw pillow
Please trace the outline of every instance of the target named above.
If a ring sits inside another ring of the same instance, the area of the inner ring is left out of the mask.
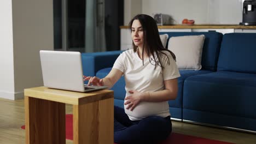
[[[201,65],[202,69],[217,70],[217,62],[219,56],[220,44],[222,43],[222,33],[218,32],[160,32],[159,34],[168,34],[167,44],[171,37],[179,37],[184,35],[205,35],[205,43],[203,44]]]

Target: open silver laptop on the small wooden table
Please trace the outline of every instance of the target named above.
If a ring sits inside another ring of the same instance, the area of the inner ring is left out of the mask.
[[[77,92],[107,88],[84,85],[80,52],[41,50],[40,61],[45,87]]]

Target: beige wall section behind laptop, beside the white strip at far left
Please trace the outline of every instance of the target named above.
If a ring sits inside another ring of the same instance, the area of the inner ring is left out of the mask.
[[[15,92],[43,85],[40,50],[53,50],[53,0],[13,0]]]

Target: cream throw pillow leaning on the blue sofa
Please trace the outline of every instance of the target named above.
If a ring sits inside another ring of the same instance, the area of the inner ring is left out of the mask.
[[[169,40],[168,49],[176,56],[179,70],[200,70],[202,46],[205,35],[188,35],[172,37]]]

